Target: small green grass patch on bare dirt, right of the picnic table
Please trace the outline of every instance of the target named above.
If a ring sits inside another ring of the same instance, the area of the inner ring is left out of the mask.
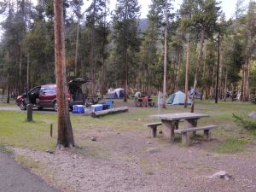
[[[228,138],[224,143],[214,146],[212,149],[221,154],[235,154],[245,150],[246,139]]]

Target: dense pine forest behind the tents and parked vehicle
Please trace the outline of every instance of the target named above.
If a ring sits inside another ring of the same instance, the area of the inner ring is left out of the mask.
[[[84,3],[89,4],[87,9]],[[164,33],[167,32],[166,92],[197,90],[224,99],[256,92],[256,3],[236,2],[227,20],[215,0],[152,0],[146,19],[137,0],[64,1],[67,79],[90,77],[87,93],[109,88],[131,94],[163,90]],[[0,3],[0,88],[17,96],[38,84],[55,83],[53,1],[4,0]],[[167,15],[167,20],[166,20]],[[186,73],[187,67],[187,73]],[[187,79],[187,86],[186,86]]]

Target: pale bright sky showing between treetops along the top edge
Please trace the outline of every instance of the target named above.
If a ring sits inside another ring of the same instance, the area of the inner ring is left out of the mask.
[[[219,0],[220,1],[220,0]],[[244,0],[244,5],[247,6],[249,3],[249,0]],[[87,1],[84,3],[88,3]],[[114,9],[116,0],[110,0],[110,9]],[[146,18],[148,14],[148,5],[151,3],[151,0],[138,0],[138,3],[142,6],[141,9],[141,18]],[[179,9],[180,4],[183,3],[183,0],[174,0],[172,1],[174,5],[174,9]],[[222,0],[222,3],[220,3],[220,7],[223,9],[226,18],[230,19],[235,13],[236,9],[236,0]]]

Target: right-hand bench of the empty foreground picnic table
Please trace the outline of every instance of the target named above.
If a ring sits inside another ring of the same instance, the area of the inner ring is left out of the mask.
[[[176,133],[182,134],[182,141],[183,144],[189,145],[189,132],[194,131],[204,131],[204,139],[210,140],[211,139],[211,130],[217,128],[217,125],[206,125],[206,126],[199,126],[199,127],[189,127],[186,129],[175,130]]]

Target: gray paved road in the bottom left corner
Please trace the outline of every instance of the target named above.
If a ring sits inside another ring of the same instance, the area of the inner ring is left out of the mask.
[[[0,192],[61,192],[0,152]]]

